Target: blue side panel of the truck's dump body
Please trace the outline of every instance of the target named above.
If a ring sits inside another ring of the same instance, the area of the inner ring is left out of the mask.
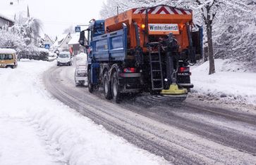
[[[97,22],[96,22],[97,24]],[[116,32],[92,38],[92,59],[97,61],[123,61],[127,55],[127,27]]]

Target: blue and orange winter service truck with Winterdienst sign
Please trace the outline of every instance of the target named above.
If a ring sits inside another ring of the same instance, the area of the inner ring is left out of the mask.
[[[171,6],[133,8],[106,20],[91,20],[80,32],[87,52],[90,93],[102,86],[106,99],[148,92],[185,100],[190,65],[202,56],[202,28],[193,32],[193,12]]]

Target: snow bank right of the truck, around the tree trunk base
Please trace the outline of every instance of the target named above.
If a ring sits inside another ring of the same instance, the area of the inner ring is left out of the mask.
[[[256,73],[248,72],[239,62],[215,60],[216,73],[209,75],[209,62],[193,67],[193,92],[223,100],[256,105]]]

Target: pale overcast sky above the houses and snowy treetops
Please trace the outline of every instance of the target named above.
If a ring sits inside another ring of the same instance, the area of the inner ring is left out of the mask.
[[[13,6],[10,2],[13,1]],[[0,14],[26,11],[30,8],[30,16],[43,22],[42,34],[51,37],[62,34],[63,29],[71,25],[88,24],[92,19],[99,18],[99,11],[104,0],[0,0]],[[8,6],[8,7],[6,7]],[[8,12],[10,11],[10,12]]]

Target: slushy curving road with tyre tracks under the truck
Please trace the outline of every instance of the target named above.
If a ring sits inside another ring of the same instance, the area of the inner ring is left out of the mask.
[[[73,72],[74,67],[47,70],[47,90],[130,143],[173,164],[255,165],[255,111],[224,109],[194,98],[162,102],[147,93],[116,104],[104,99],[102,88],[92,94],[75,87]]]

